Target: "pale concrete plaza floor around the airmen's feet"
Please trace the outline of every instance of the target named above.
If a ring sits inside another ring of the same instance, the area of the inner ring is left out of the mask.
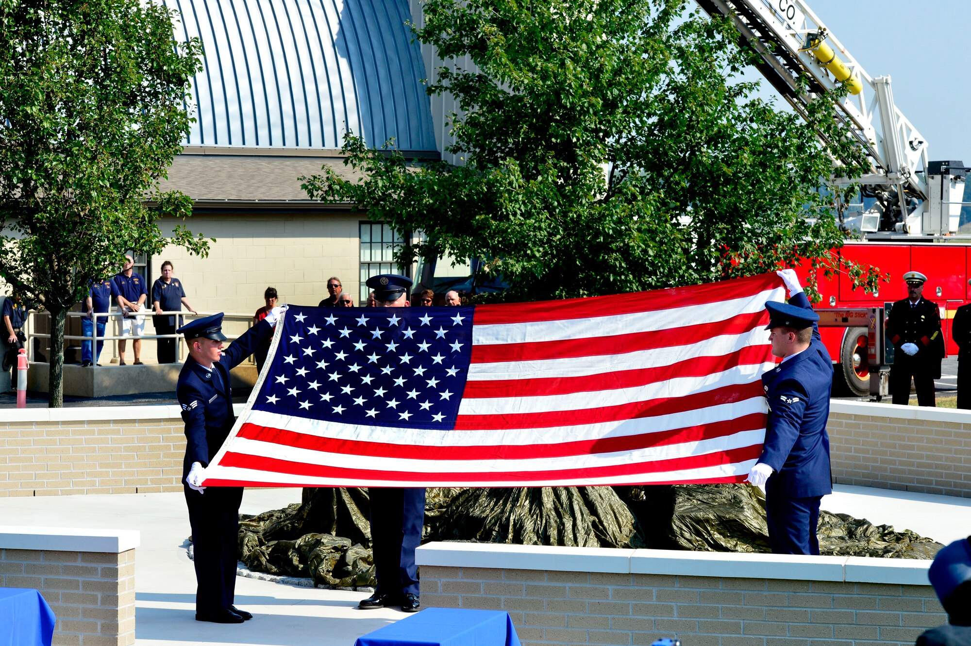
[[[943,543],[971,533],[971,499],[864,487],[836,489],[822,501],[822,508],[913,530]],[[299,500],[299,489],[247,490],[242,511],[259,513]],[[0,525],[139,530],[138,646],[351,646],[358,636],[407,616],[389,608],[357,610],[354,606],[367,593],[240,577],[236,604],[255,615],[252,621],[238,626],[194,621],[195,575],[183,546],[189,527],[181,493],[2,499]]]

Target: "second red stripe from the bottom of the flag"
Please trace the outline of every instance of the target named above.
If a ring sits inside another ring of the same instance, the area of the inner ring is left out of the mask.
[[[394,471],[368,468],[331,467],[325,465],[307,465],[290,460],[266,458],[245,453],[227,451],[219,462],[221,467],[249,468],[258,471],[272,471],[288,473],[290,475],[306,475],[318,478],[348,478],[359,482],[361,480],[397,480],[414,482],[416,484],[438,484],[458,482],[482,482],[495,480],[552,482],[556,480],[573,480],[576,478],[602,478],[622,475],[637,475],[647,473],[663,473],[665,471],[684,471],[692,468],[718,467],[747,460],[754,460],[762,453],[761,444],[742,446],[727,451],[716,451],[704,455],[693,455],[670,460],[655,460],[653,462],[635,462],[624,465],[609,465],[606,467],[564,468],[547,471],[462,471],[462,472],[434,472],[416,473],[415,471]]]

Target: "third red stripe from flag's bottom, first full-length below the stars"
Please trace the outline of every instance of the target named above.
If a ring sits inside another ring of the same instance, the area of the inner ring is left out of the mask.
[[[310,436],[295,431],[244,424],[238,436],[281,446],[340,453],[366,455],[375,458],[401,458],[402,460],[530,460],[563,458],[587,454],[636,451],[657,446],[670,446],[696,442],[713,437],[731,436],[744,431],[765,428],[765,413],[752,413],[735,419],[699,424],[683,429],[671,429],[656,433],[632,436],[607,436],[599,439],[583,439],[555,444],[478,444],[474,446],[450,445],[427,446],[395,444],[358,439]]]

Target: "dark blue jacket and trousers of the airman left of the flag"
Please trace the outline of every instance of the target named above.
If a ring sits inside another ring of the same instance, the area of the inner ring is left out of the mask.
[[[193,462],[203,467],[209,465],[236,421],[229,371],[272,334],[270,324],[260,321],[223,350],[218,363],[213,364],[213,371],[207,371],[189,357],[179,374],[176,394],[182,405],[186,440],[183,488],[192,527],[197,615],[217,613],[233,604],[243,488],[207,487],[205,492],[197,492],[185,484],[185,476]]]

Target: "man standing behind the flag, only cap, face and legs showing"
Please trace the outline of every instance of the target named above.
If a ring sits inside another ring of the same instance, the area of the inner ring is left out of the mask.
[[[406,292],[411,278],[383,274],[371,276],[376,307],[408,307]],[[419,571],[415,549],[424,525],[425,490],[416,487],[370,487],[371,538],[378,587],[357,604],[362,610],[400,605],[404,612],[418,612]]]

